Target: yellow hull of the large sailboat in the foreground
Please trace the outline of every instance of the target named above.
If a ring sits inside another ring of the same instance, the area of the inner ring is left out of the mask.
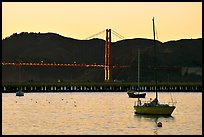
[[[135,114],[171,115],[175,106],[134,106]]]

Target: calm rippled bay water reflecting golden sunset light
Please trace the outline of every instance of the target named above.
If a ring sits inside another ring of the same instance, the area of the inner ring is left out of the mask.
[[[202,93],[160,93],[159,101],[171,97],[177,101],[172,117],[152,117],[135,115],[136,99],[126,92],[3,93],[2,134],[201,135]]]

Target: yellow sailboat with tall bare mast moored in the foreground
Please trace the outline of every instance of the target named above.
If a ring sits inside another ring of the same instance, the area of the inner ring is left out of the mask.
[[[154,26],[154,18],[153,21],[153,32],[154,32],[154,54],[156,54],[156,44],[155,44],[155,26]],[[155,55],[156,62],[156,55]],[[155,64],[155,79],[156,79],[156,64]],[[157,80],[155,80],[155,85],[157,87]],[[160,104],[158,99],[158,93],[156,89],[156,97],[151,102],[141,103],[140,98],[138,98],[137,103],[134,104],[135,114],[147,114],[147,115],[171,115],[174,109],[176,108],[174,104]]]

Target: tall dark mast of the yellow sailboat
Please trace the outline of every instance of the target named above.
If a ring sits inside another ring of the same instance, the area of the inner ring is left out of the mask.
[[[154,35],[154,78],[155,78],[155,87],[156,87],[156,100],[158,100],[158,94],[157,94],[157,71],[156,71],[156,67],[157,67],[157,58],[156,58],[156,41],[155,41],[155,25],[154,25],[154,17],[152,19],[153,21],[153,35]]]

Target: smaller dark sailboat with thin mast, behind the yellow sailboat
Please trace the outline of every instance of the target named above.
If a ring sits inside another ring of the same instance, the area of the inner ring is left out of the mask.
[[[135,90],[128,90],[127,94],[129,98],[145,98],[146,93],[139,93],[139,83],[140,83],[140,50],[138,49],[138,92]]]

